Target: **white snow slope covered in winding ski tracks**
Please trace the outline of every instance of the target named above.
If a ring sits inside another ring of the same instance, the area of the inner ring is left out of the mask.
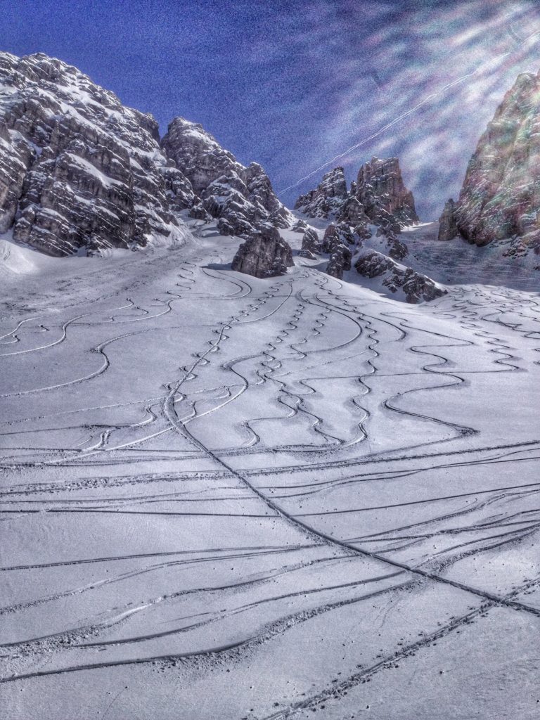
[[[2,240],[2,716],[538,718],[539,298],[433,228],[418,306]]]

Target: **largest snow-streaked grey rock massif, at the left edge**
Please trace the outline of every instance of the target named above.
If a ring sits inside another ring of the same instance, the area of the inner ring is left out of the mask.
[[[0,53],[0,231],[56,256],[174,242],[189,202],[153,117],[60,60]]]

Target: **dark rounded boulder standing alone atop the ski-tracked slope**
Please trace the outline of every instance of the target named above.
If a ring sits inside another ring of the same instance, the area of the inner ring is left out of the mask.
[[[284,275],[293,265],[289,244],[276,228],[265,225],[240,245],[231,267],[247,275],[265,278]]]

